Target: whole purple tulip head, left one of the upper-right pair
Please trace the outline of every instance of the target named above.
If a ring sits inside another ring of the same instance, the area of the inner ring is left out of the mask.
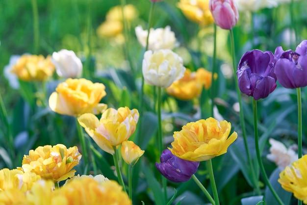
[[[240,91],[255,100],[266,98],[276,88],[274,55],[271,51],[247,51],[238,65]]]

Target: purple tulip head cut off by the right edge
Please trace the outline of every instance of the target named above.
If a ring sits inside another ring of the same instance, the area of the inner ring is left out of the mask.
[[[307,86],[307,40],[302,41],[295,51],[283,51],[281,46],[275,50],[274,72],[285,88]]]

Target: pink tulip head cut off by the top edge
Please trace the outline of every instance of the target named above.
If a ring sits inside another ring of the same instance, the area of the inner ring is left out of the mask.
[[[214,22],[223,29],[231,29],[239,20],[239,13],[233,0],[210,0],[209,8]]]

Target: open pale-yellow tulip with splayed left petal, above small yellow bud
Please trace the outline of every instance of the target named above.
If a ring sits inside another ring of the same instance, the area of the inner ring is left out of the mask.
[[[80,125],[105,152],[114,154],[113,146],[120,145],[133,134],[139,119],[137,109],[120,107],[108,108],[99,120],[95,115],[86,113],[78,118]]]

